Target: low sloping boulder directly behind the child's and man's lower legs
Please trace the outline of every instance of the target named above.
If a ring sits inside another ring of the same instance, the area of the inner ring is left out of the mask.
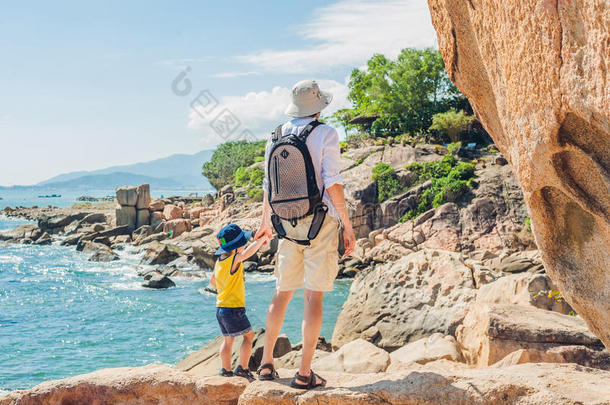
[[[254,331],[254,342],[252,344],[252,355],[250,357],[249,368],[256,370],[260,366],[263,358],[263,342],[265,339],[264,329],[256,329]],[[211,376],[218,374],[220,370],[220,357],[218,352],[222,344],[223,337],[218,336],[216,339],[203,346],[180,360],[176,365],[178,370],[188,371],[198,376]],[[239,361],[239,348],[241,346],[242,337],[237,337],[233,342],[233,352],[231,354],[231,362],[236,366]],[[273,357],[279,358],[290,352],[292,347],[290,341],[284,335],[278,337],[277,343],[273,350]]]

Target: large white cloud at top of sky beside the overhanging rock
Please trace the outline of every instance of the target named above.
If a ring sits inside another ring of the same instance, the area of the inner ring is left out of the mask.
[[[435,47],[436,34],[425,0],[343,0],[314,11],[298,27],[306,48],[267,49],[238,60],[273,72],[320,72],[357,66],[374,53],[396,57],[406,47]]]

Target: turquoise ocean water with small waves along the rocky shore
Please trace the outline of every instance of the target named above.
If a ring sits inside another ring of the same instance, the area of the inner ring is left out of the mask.
[[[80,195],[105,196],[112,190],[62,193],[38,198],[39,191],[0,190],[5,206],[68,206]],[[164,190],[160,195],[185,195]],[[0,230],[27,221],[0,214]],[[93,263],[74,247],[9,245],[0,242],[0,392],[30,388],[106,367],[175,364],[220,334],[215,296],[207,280],[174,278],[175,288],[141,287],[144,266],[133,252],[120,260]],[[253,327],[264,327],[275,287],[273,276],[250,273],[246,304]],[[324,304],[322,335],[330,339],[349,280],[337,280]],[[301,340],[302,290],[295,294],[283,333]]]

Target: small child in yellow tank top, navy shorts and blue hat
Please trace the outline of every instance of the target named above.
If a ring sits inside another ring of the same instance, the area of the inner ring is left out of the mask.
[[[254,331],[246,316],[245,275],[242,262],[266,244],[268,238],[260,238],[244,249],[251,236],[252,231],[244,232],[235,224],[225,226],[217,235],[220,247],[216,251],[216,255],[219,258],[214,266],[210,284],[218,291],[216,319],[218,319],[224,336],[224,341],[220,346],[222,368],[219,374],[223,377],[237,375],[254,378],[248,368]],[[233,373],[231,371],[231,352],[236,336],[243,336],[243,342],[239,352],[239,365]]]

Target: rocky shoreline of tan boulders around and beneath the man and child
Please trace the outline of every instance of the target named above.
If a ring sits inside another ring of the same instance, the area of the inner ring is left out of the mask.
[[[322,338],[315,354],[313,368],[329,377],[328,388],[302,393],[287,386],[301,346],[286,337],[274,353],[279,382],[213,377],[216,339],[175,368],[100,370],[0,395],[0,404],[89,403],[100,392],[116,403],[609,403],[610,354],[545,274],[505,160],[471,152],[476,188],[401,220],[428,187],[405,165],[437,161],[445,152],[370,145],[342,157],[359,239],[353,257],[341,261],[341,277],[354,278],[349,297],[332,337]],[[391,165],[405,186],[381,203],[371,176],[379,162]],[[122,249],[139,252],[142,264],[154,266],[141,273],[144,285],[168,288],[172,276],[205,276],[214,264],[216,231],[229,222],[256,229],[262,209],[230,186],[199,199],[151,200],[146,187],[118,190],[119,207],[7,208],[4,215],[36,225],[0,232],[0,241],[74,246],[92,261],[116,260]],[[146,202],[138,207],[142,190]],[[276,248],[274,240],[245,263],[246,271],[272,272]],[[184,270],[193,266],[199,271]],[[263,334],[257,331],[253,368]]]

